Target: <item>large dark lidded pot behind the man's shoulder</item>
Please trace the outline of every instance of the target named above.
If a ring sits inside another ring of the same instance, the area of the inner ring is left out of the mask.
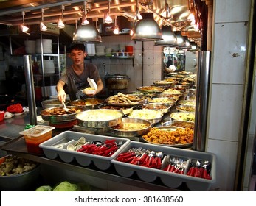
[[[128,88],[129,77],[125,74],[114,74],[105,77],[105,87],[108,90],[123,90]]]

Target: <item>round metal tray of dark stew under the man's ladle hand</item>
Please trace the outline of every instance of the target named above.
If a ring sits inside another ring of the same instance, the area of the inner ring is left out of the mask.
[[[75,110],[75,112],[70,114],[63,114],[63,115],[52,115],[49,113],[50,110],[58,109],[58,108],[63,109],[63,107],[51,107],[51,108],[41,110],[42,119],[44,121],[50,121],[52,123],[72,121],[72,120],[75,120],[75,116],[77,115],[77,113],[80,113],[81,111],[83,111],[81,107],[66,106],[66,108]]]

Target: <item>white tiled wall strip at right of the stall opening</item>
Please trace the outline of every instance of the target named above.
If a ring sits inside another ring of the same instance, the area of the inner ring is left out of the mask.
[[[212,34],[212,85],[207,151],[217,154],[212,190],[234,189],[245,85],[250,1],[216,0]]]

